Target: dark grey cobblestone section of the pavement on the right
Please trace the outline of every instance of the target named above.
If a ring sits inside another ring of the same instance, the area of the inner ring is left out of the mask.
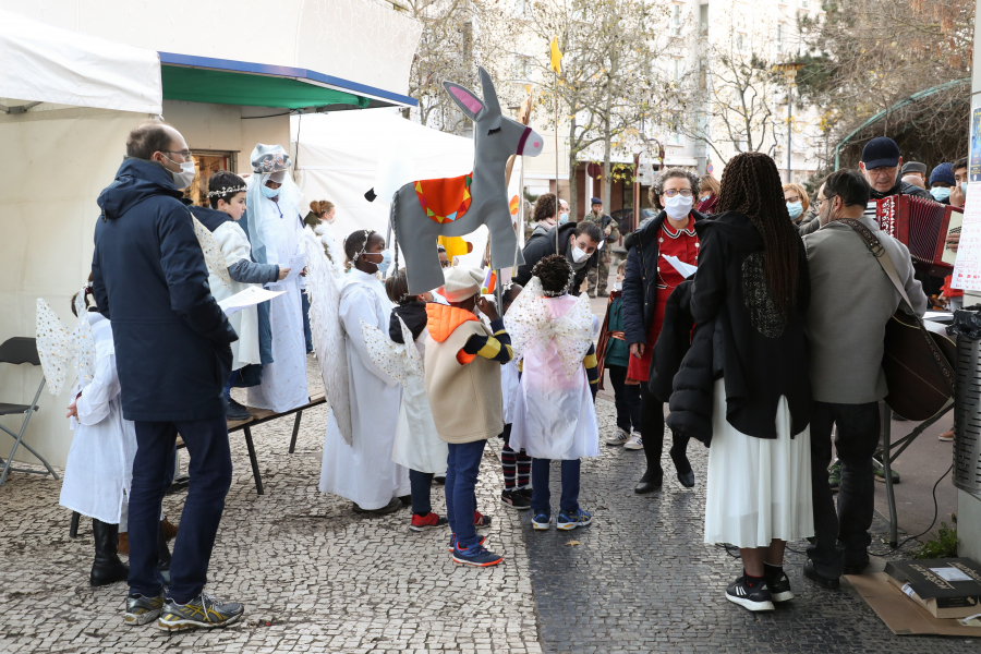
[[[601,400],[603,434],[616,427],[611,409]],[[591,526],[534,532],[525,518],[545,652],[981,650],[977,639],[894,635],[848,584],[827,591],[808,581],[801,571],[804,557],[792,552],[787,553],[786,570],[797,598],[789,606],[752,614],[730,604],[725,589],[742,573],[742,566],[725,549],[702,543],[708,450],[693,440],[689,458],[694,488],[678,482],[665,448],[664,488],[639,496],[633,486],[644,472],[643,452],[607,447],[602,457],[582,465],[580,502],[593,513]],[[561,486],[553,468],[555,498]],[[885,533],[886,524],[877,520],[876,530]],[[873,538],[873,547],[879,543]],[[799,552],[806,546],[792,545]]]

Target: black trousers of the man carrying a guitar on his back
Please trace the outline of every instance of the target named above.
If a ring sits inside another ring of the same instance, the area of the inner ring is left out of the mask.
[[[832,458],[832,427],[837,425],[835,450],[841,462],[838,508],[827,485]],[[879,444],[879,402],[832,404],[814,402],[811,417],[811,494],[814,502],[814,544],[808,556],[823,577],[836,578],[846,565],[865,561],[872,542],[869,528],[875,508],[872,453]],[[841,549],[838,548],[838,543]]]

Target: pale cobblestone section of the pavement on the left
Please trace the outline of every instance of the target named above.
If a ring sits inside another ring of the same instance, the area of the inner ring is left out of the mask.
[[[484,458],[477,505],[494,518],[482,533],[505,564],[457,566],[446,529],[413,534],[408,509],[365,518],[317,491],[326,421],[324,408],[304,411],[294,455],[292,419],[253,431],[263,496],[241,432],[231,435],[234,479],[207,591],[243,602],[246,613],[225,630],[123,626],[125,585],[88,586],[90,522],[69,538],[61,483],[13,475],[0,487],[0,652],[541,652],[520,516],[498,500],[494,453]],[[165,499],[172,519],[185,495]],[[443,513],[441,486],[433,499]]]

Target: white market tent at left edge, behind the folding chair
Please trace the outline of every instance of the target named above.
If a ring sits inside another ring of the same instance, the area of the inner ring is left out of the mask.
[[[71,316],[69,298],[92,264],[95,201],[119,167],[118,157],[102,152],[161,112],[160,61],[153,50],[0,11],[0,152],[8,161],[0,182],[2,341],[34,336],[37,298],[63,320]],[[29,403],[40,376],[38,367],[0,365],[0,401]],[[25,436],[55,465],[63,465],[70,443],[69,392],[46,391]],[[17,431],[22,420],[8,416],[3,424]],[[0,437],[5,458],[13,440]],[[17,458],[34,461],[25,453],[20,449]]]

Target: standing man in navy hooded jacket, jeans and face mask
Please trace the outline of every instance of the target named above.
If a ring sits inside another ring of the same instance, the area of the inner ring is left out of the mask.
[[[159,122],[133,130],[116,180],[99,195],[92,262],[93,292],[112,325],[123,416],[136,426],[125,622],[159,618],[165,630],[222,626],[243,613],[202,592],[231,484],[223,388],[238,336],[211,296],[179,190],[193,179],[180,132]],[[178,433],[191,486],[165,598],[158,521]]]

